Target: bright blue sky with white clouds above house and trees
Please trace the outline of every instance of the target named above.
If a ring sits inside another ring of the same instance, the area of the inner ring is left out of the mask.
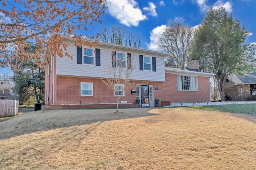
[[[141,48],[159,50],[157,41],[160,33],[170,21],[181,22],[189,27],[200,25],[210,6],[224,6],[233,18],[252,33],[246,43],[256,43],[256,0],[109,0],[107,12],[101,16],[102,24],[88,29],[94,35],[101,27],[120,25],[140,34]],[[0,74],[9,73],[10,68],[0,68]]]

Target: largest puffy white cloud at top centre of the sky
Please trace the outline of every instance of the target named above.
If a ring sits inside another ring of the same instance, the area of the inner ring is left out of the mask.
[[[142,14],[135,0],[110,0],[108,13],[119,20],[120,23],[130,27],[138,26],[140,21],[148,18]]]

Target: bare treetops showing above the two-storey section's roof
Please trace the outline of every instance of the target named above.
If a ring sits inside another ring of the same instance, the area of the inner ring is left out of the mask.
[[[112,25],[100,29],[100,38],[105,43],[126,45],[129,47],[140,48],[142,43],[140,35],[136,35],[130,30],[121,26]]]

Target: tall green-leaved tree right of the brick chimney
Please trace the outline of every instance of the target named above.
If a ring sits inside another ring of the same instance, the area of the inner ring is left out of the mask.
[[[247,35],[240,21],[219,6],[210,7],[192,41],[190,56],[199,60],[200,70],[216,73],[222,101],[224,80],[230,74],[255,69],[255,46],[244,43]]]

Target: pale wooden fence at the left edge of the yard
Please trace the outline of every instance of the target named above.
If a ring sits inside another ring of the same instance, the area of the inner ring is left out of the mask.
[[[0,100],[0,117],[15,116],[19,111],[18,100]]]

